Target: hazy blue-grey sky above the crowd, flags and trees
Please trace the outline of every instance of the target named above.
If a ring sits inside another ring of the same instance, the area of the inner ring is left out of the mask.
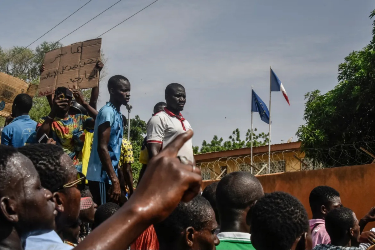
[[[0,46],[27,46],[89,0],[2,0]],[[36,43],[57,41],[118,0],[92,0]],[[64,45],[93,39],[153,0],[122,0],[65,39]],[[166,85],[186,89],[183,116],[193,145],[214,135],[227,139],[236,128],[242,139],[251,128],[251,85],[269,106],[269,68],[288,93],[272,92],[272,144],[286,142],[305,123],[304,95],[326,93],[337,84],[338,64],[372,38],[375,1],[342,0],[159,0],[102,36],[108,77],[131,83],[130,118],[148,121],[164,100]],[[108,79],[106,79],[108,80]],[[99,105],[109,100],[102,81]],[[121,111],[126,113],[125,107]],[[254,127],[268,124],[253,115]]]

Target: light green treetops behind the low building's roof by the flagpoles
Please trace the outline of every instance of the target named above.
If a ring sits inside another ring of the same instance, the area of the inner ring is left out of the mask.
[[[268,145],[269,138],[268,133],[259,133],[256,135],[254,132],[257,131],[257,128],[253,131],[253,147],[259,147]],[[198,146],[193,147],[193,153],[209,153],[215,151],[225,151],[225,150],[232,150],[237,148],[249,148],[251,147],[251,130],[248,129],[246,132],[245,140],[241,140],[240,137],[240,130],[236,129],[233,131],[232,135],[228,137],[229,140],[225,141],[221,137],[220,139],[217,135],[213,136],[213,139],[210,143],[207,143],[205,140],[202,142],[202,147],[199,150]]]

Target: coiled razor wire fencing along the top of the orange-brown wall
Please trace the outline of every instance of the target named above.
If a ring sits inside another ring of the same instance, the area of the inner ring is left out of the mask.
[[[309,157],[305,157],[305,152]],[[271,152],[270,174],[291,171],[305,171],[337,166],[353,166],[375,162],[375,141],[356,144],[340,144],[331,148],[284,150]],[[212,162],[201,162],[203,180],[220,179],[233,171],[246,171],[254,175],[268,172],[268,153],[251,156],[222,157]]]

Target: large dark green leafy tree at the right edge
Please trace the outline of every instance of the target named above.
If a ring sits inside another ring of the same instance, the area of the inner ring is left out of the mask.
[[[375,10],[370,18],[374,15]],[[375,21],[372,35],[365,48],[351,52],[339,64],[339,82],[333,90],[326,94],[319,90],[305,94],[306,123],[298,128],[296,135],[307,157],[328,166],[366,162],[365,159],[354,162],[356,150],[335,155],[331,150],[317,149],[375,140]]]

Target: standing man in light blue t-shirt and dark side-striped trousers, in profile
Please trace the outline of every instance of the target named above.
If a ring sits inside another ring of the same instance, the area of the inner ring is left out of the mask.
[[[99,110],[95,120],[94,138],[87,168],[87,180],[96,204],[117,202],[121,195],[117,168],[123,137],[121,105],[130,98],[130,82],[121,75],[108,80],[110,101]]]

